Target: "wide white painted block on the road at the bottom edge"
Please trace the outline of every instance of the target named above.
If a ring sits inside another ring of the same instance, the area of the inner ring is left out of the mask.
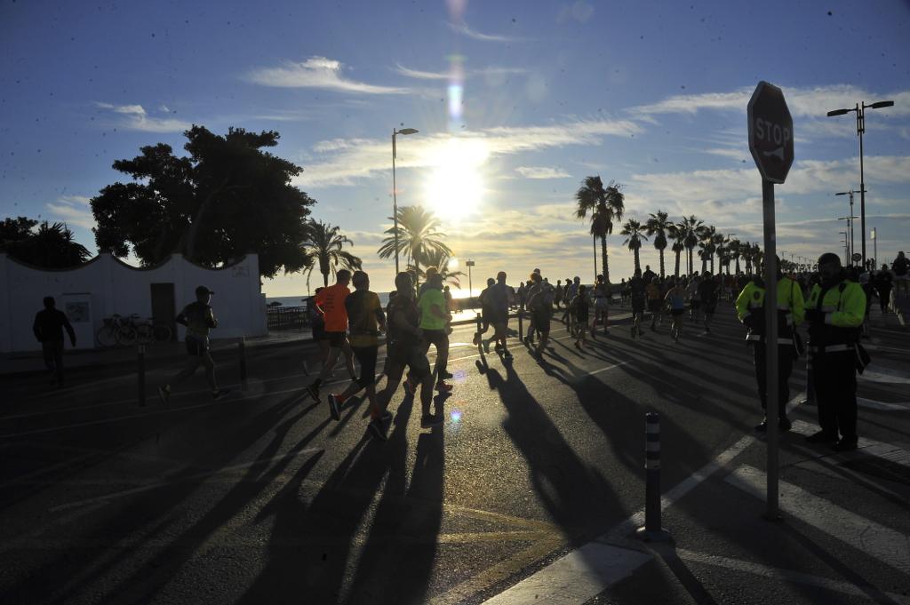
[[[611,584],[629,577],[651,559],[651,555],[638,550],[589,542],[485,603],[583,603]]]

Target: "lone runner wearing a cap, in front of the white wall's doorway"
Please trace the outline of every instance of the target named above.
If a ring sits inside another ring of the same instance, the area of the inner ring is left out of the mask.
[[[218,322],[208,303],[212,299],[212,292],[205,286],[196,288],[196,302],[188,304],[177,315],[177,323],[187,327],[187,365],[177,372],[170,382],[158,387],[158,397],[163,404],[170,399],[171,385],[183,382],[196,373],[199,365],[206,368],[206,380],[212,388],[212,398],[221,397],[226,391],[218,388],[215,382],[215,361],[209,351],[208,330],[217,328]]]

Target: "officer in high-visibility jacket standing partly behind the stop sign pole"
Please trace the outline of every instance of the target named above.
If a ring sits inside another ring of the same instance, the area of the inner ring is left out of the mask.
[[[794,359],[797,357],[794,331],[796,326],[803,323],[805,308],[803,291],[793,279],[784,277],[779,259],[777,267],[777,426],[782,430],[790,430],[793,425],[790,418],[787,418],[786,405],[790,398],[790,375],[793,373]],[[749,328],[745,338],[752,345],[758,397],[762,401],[762,409],[766,410],[768,384],[764,345],[764,280],[761,275],[762,271],[759,271],[736,298],[736,316],[746,328]],[[766,420],[763,418],[755,430],[759,432],[767,430]]]

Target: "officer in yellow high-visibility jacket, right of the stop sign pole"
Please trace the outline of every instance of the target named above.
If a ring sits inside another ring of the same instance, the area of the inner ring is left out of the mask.
[[[847,279],[841,259],[834,253],[818,258],[818,271],[821,283],[809,293],[805,319],[821,430],[806,439],[847,451],[856,449],[857,441],[856,360],[865,293]]]

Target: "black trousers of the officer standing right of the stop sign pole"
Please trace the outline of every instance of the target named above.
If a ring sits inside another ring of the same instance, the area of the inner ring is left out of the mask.
[[[812,354],[818,425],[836,438],[856,439],[856,365],[854,351]]]

